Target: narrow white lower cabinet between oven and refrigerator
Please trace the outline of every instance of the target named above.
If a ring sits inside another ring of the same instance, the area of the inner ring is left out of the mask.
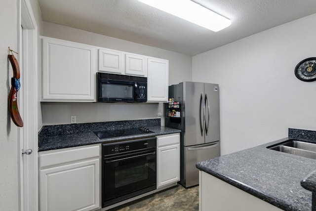
[[[180,133],[157,136],[157,188],[180,180]]]

